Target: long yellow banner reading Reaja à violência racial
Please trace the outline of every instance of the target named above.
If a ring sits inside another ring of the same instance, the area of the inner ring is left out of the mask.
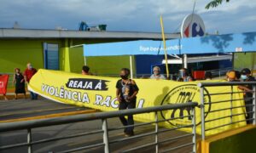
[[[39,70],[37,74],[32,77],[28,88],[30,91],[56,102],[89,107],[100,111],[118,111],[119,102],[115,98],[115,85],[118,80],[119,78],[116,77],[84,76],[63,71]],[[198,82],[173,82],[150,79],[134,80],[139,88],[139,93],[137,94],[137,108],[189,102],[197,102],[199,105],[201,103],[200,88],[197,87]],[[238,92],[238,90],[238,88],[234,88],[234,92]],[[231,107],[229,101],[231,99],[231,94],[211,95],[227,92],[231,92],[230,87],[211,87],[206,88],[204,91],[204,99],[207,103],[207,105],[205,105],[205,110],[212,111],[205,114],[205,120],[209,121],[218,117],[223,117],[221,120],[206,122],[206,129],[229,124],[230,122],[237,123],[209,130],[207,131],[207,135],[246,125],[246,122],[239,122],[245,120],[244,115],[237,115],[232,118],[227,117],[231,114],[245,113],[245,109],[239,107],[244,105],[243,100],[234,101],[232,106],[239,108],[230,110],[225,108]],[[242,96],[242,94],[232,94],[232,99],[242,99]],[[228,102],[214,103],[220,100],[227,100]],[[220,109],[224,110],[216,111]],[[195,120],[197,123],[196,131],[197,133],[201,133],[201,109],[196,108],[195,111]],[[188,116],[190,113],[191,111],[189,109],[179,109],[162,111],[159,112],[158,116],[160,119],[168,119],[170,117]],[[150,122],[154,121],[154,113],[136,115],[134,118],[138,122]],[[189,124],[191,124],[191,118],[184,117],[169,122],[162,122],[160,125],[165,127],[177,127]],[[188,132],[192,130],[191,127],[182,129]]]

